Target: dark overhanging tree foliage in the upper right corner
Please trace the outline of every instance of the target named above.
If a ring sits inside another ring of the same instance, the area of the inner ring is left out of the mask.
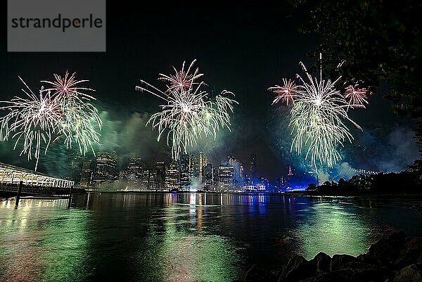
[[[323,53],[325,74],[333,78],[340,72],[346,84],[367,87],[386,81],[390,91],[385,98],[394,110],[422,117],[422,1],[292,1],[310,11],[300,30],[321,35],[313,55]]]

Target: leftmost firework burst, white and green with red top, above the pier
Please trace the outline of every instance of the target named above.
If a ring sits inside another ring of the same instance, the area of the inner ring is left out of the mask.
[[[17,148],[22,143],[20,155],[27,154],[28,160],[32,156],[37,160],[37,170],[41,147],[44,154],[51,143],[64,138],[66,148],[71,148],[72,143],[77,143],[80,153],[86,153],[92,148],[92,143],[98,143],[100,134],[96,126],[101,129],[101,120],[98,110],[87,103],[95,98],[84,94],[82,91],[91,89],[78,87],[77,84],[87,82],[77,81],[75,74],[69,77],[68,72],[61,78],[54,75],[55,82],[43,81],[51,88],[41,87],[39,95],[34,94],[29,86],[19,77],[25,85],[22,91],[25,98],[15,96],[11,101],[4,101],[6,105],[0,110],[8,111],[0,117],[0,140],[15,139]]]

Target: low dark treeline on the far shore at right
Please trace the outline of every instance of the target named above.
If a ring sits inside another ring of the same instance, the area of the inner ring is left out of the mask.
[[[361,195],[361,194],[417,194],[422,193],[422,182],[416,172],[355,175],[350,180],[343,178],[337,183],[325,181],[316,186],[309,184],[309,193],[321,195]]]

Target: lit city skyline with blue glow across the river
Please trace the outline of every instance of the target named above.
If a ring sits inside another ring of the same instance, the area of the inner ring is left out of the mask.
[[[117,152],[98,152],[96,158],[72,155],[72,176],[65,177],[75,186],[106,191],[262,191],[280,193],[305,189],[317,184],[312,172],[300,173],[292,167],[275,179],[269,179],[257,169],[259,157],[250,155],[246,162],[228,154],[224,162],[213,163],[207,155],[183,154],[180,160],[149,160],[129,158],[117,167]],[[202,164],[202,165],[201,165]],[[249,169],[244,169],[249,167]],[[359,170],[351,174],[377,174]],[[329,179],[338,181],[340,174]],[[344,178],[343,178],[344,179]],[[346,179],[348,180],[348,179]]]

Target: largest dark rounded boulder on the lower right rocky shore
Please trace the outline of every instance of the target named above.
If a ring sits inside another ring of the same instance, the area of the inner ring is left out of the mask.
[[[366,262],[392,267],[406,243],[406,234],[399,231],[393,233],[389,238],[381,238],[377,243],[371,245],[367,255],[361,258]]]

